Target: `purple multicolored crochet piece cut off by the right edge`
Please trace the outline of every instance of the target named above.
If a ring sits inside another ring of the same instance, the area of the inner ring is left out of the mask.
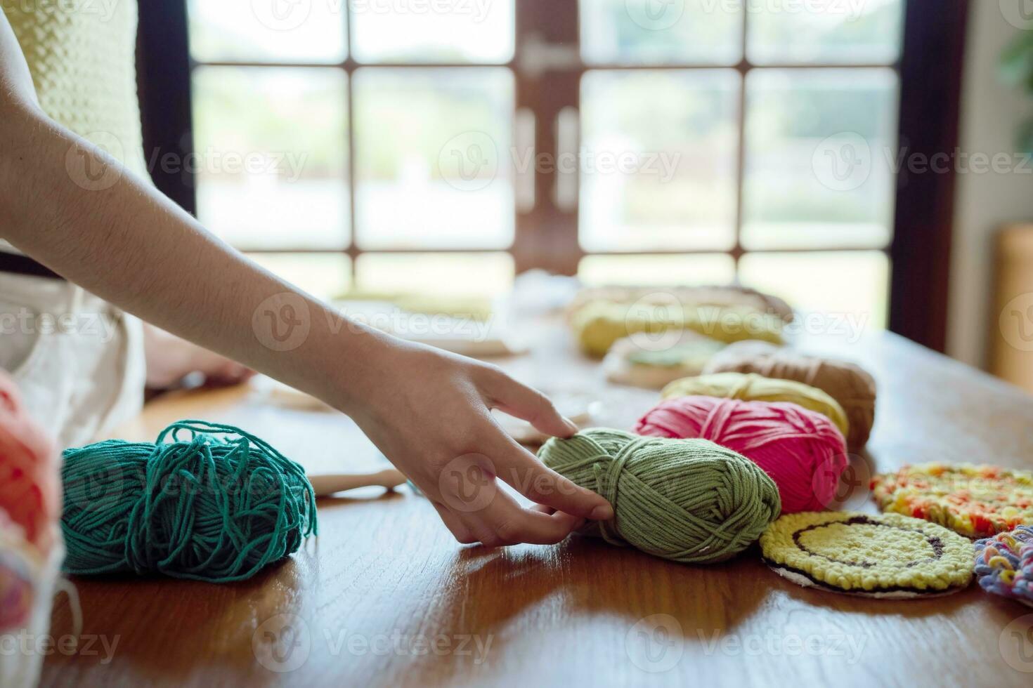
[[[1019,526],[977,540],[975,576],[987,592],[1033,607],[1033,528]]]

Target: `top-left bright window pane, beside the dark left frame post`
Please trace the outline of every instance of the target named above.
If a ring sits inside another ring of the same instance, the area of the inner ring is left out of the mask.
[[[341,62],[344,0],[188,0],[190,54],[209,62]]]

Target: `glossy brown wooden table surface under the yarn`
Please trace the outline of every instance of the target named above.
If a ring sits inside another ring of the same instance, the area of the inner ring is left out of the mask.
[[[656,402],[655,392],[607,385],[558,323],[537,331],[530,354],[500,364],[547,391],[597,395],[600,424],[629,427]],[[854,458],[855,477],[933,460],[1030,467],[1033,397],[1016,388],[889,334],[805,349],[856,360],[878,381],[875,432]],[[163,397],[123,434],[153,439],[180,418],[252,429],[296,448],[292,458],[310,471],[384,461],[349,419],[277,406],[247,387]],[[845,492],[846,505],[874,511],[862,490]],[[770,571],[755,547],[708,566],[582,536],[463,547],[407,489],[322,499],[319,525],[289,560],[244,583],[76,579],[93,654],[54,653],[41,685],[1033,681],[1033,616],[1024,618],[1033,610],[975,585],[948,597],[871,600],[800,588]],[[70,628],[62,597],[53,634]]]

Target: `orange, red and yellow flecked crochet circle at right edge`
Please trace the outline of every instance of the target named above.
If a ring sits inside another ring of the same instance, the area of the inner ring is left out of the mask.
[[[1033,525],[1033,472],[926,463],[872,479],[883,512],[939,523],[968,537]]]

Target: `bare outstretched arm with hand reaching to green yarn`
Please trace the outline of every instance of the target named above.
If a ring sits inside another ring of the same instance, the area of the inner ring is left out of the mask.
[[[549,434],[574,432],[540,393],[495,366],[344,320],[50,120],[2,13],[0,122],[3,238],[127,312],[348,414],[461,542],[555,543],[583,518],[612,516],[492,419],[497,407]],[[80,169],[95,173],[79,178]],[[470,492],[462,482],[478,476]],[[542,506],[521,509],[495,477]]]

